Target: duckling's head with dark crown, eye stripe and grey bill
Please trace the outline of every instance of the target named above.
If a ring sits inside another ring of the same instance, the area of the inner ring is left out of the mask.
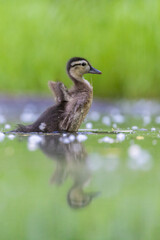
[[[67,73],[72,80],[78,81],[83,81],[83,75],[86,73],[101,74],[85,58],[80,57],[73,57],[68,61]]]

